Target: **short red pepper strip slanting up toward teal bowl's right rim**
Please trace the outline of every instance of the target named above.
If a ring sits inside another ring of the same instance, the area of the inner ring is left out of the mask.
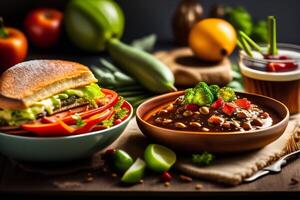
[[[94,115],[92,117],[90,117],[89,119],[85,120],[84,122],[86,123],[83,127],[80,127],[78,129],[76,129],[73,134],[82,134],[82,133],[87,133],[90,132],[98,123],[102,122],[103,120],[109,119],[110,117],[112,117],[115,114],[115,111],[112,112],[108,112],[106,114],[97,114]]]

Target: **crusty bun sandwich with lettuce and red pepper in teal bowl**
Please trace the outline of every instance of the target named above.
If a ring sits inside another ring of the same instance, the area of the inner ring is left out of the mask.
[[[41,127],[49,131],[59,123],[71,134],[91,117],[95,124],[85,131],[126,118],[124,100],[97,81],[89,68],[69,61],[32,60],[9,68],[0,78],[0,131],[41,134]]]

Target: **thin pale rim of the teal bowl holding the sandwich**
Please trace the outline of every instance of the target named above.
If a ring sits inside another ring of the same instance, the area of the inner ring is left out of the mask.
[[[16,139],[22,139],[22,140],[36,140],[36,141],[46,141],[47,140],[47,141],[49,141],[49,140],[74,139],[74,138],[92,136],[92,135],[101,134],[101,133],[105,134],[106,132],[108,132],[110,130],[117,129],[118,127],[122,126],[124,123],[127,123],[128,121],[131,120],[132,115],[133,115],[133,107],[132,107],[132,105],[128,101],[125,101],[125,103],[127,103],[127,105],[130,108],[130,113],[129,113],[128,117],[124,121],[122,121],[120,124],[114,125],[114,126],[108,128],[108,129],[103,129],[103,130],[99,130],[99,131],[93,131],[93,132],[83,133],[83,134],[78,134],[78,135],[55,136],[55,137],[21,136],[21,135],[7,134],[7,133],[3,133],[3,132],[0,132],[0,135],[5,136],[5,137],[12,137],[12,138],[16,138]]]

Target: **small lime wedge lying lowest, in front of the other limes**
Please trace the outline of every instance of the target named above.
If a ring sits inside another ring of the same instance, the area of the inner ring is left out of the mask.
[[[145,169],[146,163],[138,158],[122,176],[121,181],[124,183],[137,183],[143,178]]]

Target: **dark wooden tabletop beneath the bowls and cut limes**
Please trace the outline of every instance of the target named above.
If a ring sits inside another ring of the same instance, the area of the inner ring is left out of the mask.
[[[28,59],[66,59],[78,61],[86,65],[97,64],[100,56],[105,54],[86,54],[74,49],[65,49],[62,44],[60,52],[53,50],[50,52],[31,52]],[[170,49],[169,43],[160,43],[158,49]],[[16,147],[18,148],[18,147]],[[37,194],[38,197],[62,196],[68,195],[74,197],[90,196],[208,196],[220,197],[224,200],[225,197],[230,199],[240,196],[256,196],[261,195],[261,192],[266,192],[268,195],[279,194],[275,192],[284,192],[284,197],[295,195],[294,192],[300,192],[300,183],[291,184],[291,179],[300,180],[300,159],[294,161],[284,168],[280,174],[269,175],[261,178],[253,183],[242,184],[237,187],[227,187],[217,185],[203,180],[194,179],[190,183],[183,183],[178,179],[178,174],[174,175],[174,179],[169,187],[165,187],[159,182],[158,175],[148,174],[144,179],[144,183],[134,186],[120,185],[119,178],[114,178],[111,173],[102,173],[99,171],[92,172],[94,180],[92,182],[84,182],[89,171],[76,172],[74,174],[60,176],[44,176],[36,173],[28,173],[13,165],[9,159],[0,155],[0,197],[3,195],[24,197],[26,195]],[[72,187],[61,189],[57,187],[57,183],[69,182]],[[56,184],[55,184],[56,183]],[[196,184],[202,184],[201,190],[196,190]],[[251,192],[251,193],[249,193]],[[285,192],[289,192],[286,194]],[[292,192],[292,193],[290,193]],[[299,194],[297,194],[299,197]],[[31,198],[32,199],[32,198]]]

